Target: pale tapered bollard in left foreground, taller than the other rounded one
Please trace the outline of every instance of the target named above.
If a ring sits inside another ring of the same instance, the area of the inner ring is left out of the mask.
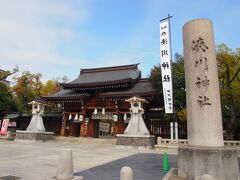
[[[66,180],[73,178],[73,159],[71,149],[62,149],[60,151],[56,178],[58,180]]]

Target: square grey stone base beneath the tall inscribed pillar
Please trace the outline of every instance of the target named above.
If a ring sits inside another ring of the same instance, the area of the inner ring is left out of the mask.
[[[219,180],[238,179],[238,155],[234,148],[179,147],[178,175],[199,179],[209,174]]]

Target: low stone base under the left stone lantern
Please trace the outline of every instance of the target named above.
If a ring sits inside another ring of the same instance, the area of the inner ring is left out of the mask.
[[[53,140],[53,132],[31,132],[31,131],[16,131],[15,140],[28,141],[49,141]]]

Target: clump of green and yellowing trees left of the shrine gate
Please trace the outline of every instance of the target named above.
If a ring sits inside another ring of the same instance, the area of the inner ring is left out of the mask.
[[[0,80],[17,71],[18,68],[12,71],[1,71]],[[24,71],[21,75],[13,78],[15,81],[13,82],[13,87],[7,87],[3,83],[0,83],[0,117],[6,113],[30,111],[29,102],[58,92],[60,90],[58,84],[68,81],[67,76],[48,80],[46,83],[42,82],[41,78],[42,74],[40,73]],[[58,108],[52,104],[52,106],[48,106],[46,109],[55,111]]]

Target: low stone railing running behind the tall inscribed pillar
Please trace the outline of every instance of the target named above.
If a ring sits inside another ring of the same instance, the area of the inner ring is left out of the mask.
[[[187,139],[162,139],[161,137],[158,137],[155,148],[177,149],[179,146],[186,146],[187,144]],[[240,141],[224,141],[224,146],[240,148]]]

